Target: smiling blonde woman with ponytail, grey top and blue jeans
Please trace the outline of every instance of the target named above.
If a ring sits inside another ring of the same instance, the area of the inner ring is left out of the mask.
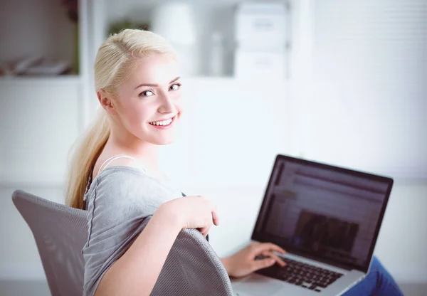
[[[67,186],[68,205],[88,210],[85,295],[149,295],[179,231],[198,228],[207,236],[218,225],[216,206],[183,197],[157,162],[159,145],[174,141],[184,115],[179,75],[174,49],[149,31],[124,30],[97,52],[101,108],[73,153]],[[253,243],[221,261],[228,275],[241,277],[285,265],[275,252],[285,250]],[[349,295],[401,295],[378,260],[371,270]]]

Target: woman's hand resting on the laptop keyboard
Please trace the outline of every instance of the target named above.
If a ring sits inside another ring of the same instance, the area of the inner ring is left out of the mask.
[[[268,268],[275,263],[278,263],[282,267],[285,266],[286,263],[278,255],[275,255],[273,251],[282,254],[286,253],[283,248],[273,243],[251,243],[236,254],[221,259],[221,261],[228,275],[231,277],[243,277],[253,273],[255,270]],[[268,258],[255,259],[258,256]]]

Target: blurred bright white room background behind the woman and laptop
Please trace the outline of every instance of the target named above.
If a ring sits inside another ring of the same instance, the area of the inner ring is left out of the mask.
[[[375,255],[426,295],[426,0],[0,0],[0,295],[48,295],[11,194],[64,202],[69,149],[98,105],[97,48],[122,28],[179,52],[186,117],[161,161],[217,203],[218,255],[248,242],[288,154],[394,178]]]

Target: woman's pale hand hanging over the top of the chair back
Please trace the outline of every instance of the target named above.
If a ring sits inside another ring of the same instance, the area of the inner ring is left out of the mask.
[[[163,203],[157,211],[176,219],[181,228],[198,228],[207,236],[212,224],[218,226],[218,210],[214,203],[203,196],[184,196]]]

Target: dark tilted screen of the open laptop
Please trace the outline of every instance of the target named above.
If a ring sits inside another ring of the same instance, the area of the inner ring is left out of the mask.
[[[252,239],[366,273],[392,185],[384,176],[279,155]]]

